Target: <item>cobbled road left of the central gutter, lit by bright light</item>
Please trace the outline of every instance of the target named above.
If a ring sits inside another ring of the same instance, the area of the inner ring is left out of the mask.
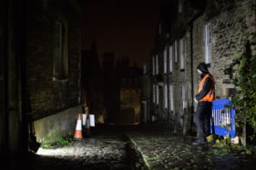
[[[103,130],[71,146],[39,148],[31,169],[130,169],[125,144],[121,133]]]

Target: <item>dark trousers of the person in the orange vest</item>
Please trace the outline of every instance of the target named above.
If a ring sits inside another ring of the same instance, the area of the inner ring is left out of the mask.
[[[195,120],[200,134],[200,140],[206,140],[206,137],[210,135],[211,107],[211,102],[199,102],[198,104]]]

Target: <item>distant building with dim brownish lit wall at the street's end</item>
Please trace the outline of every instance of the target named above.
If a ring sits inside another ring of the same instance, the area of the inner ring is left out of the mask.
[[[118,74],[118,88],[120,105],[118,122],[120,124],[138,124],[140,121],[139,76],[141,69],[136,64],[129,65],[128,57],[118,59],[116,66]]]

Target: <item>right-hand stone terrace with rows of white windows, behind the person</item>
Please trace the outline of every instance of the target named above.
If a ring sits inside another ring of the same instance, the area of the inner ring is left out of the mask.
[[[151,57],[153,115],[174,122],[174,131],[184,127],[186,133],[192,123],[201,62],[214,75],[217,98],[233,92],[230,64],[255,33],[253,5],[253,0],[177,0],[169,6],[172,13],[161,13]]]

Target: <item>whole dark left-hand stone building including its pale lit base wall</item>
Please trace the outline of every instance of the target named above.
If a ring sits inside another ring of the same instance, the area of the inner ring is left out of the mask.
[[[1,149],[26,152],[28,114],[37,140],[74,133],[81,112],[80,3],[1,1]]]

